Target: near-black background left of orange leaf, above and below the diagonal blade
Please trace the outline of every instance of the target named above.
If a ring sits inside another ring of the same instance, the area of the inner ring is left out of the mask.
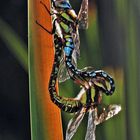
[[[0,18],[27,45],[27,1],[1,1]],[[30,140],[28,74],[0,38],[0,140]]]

